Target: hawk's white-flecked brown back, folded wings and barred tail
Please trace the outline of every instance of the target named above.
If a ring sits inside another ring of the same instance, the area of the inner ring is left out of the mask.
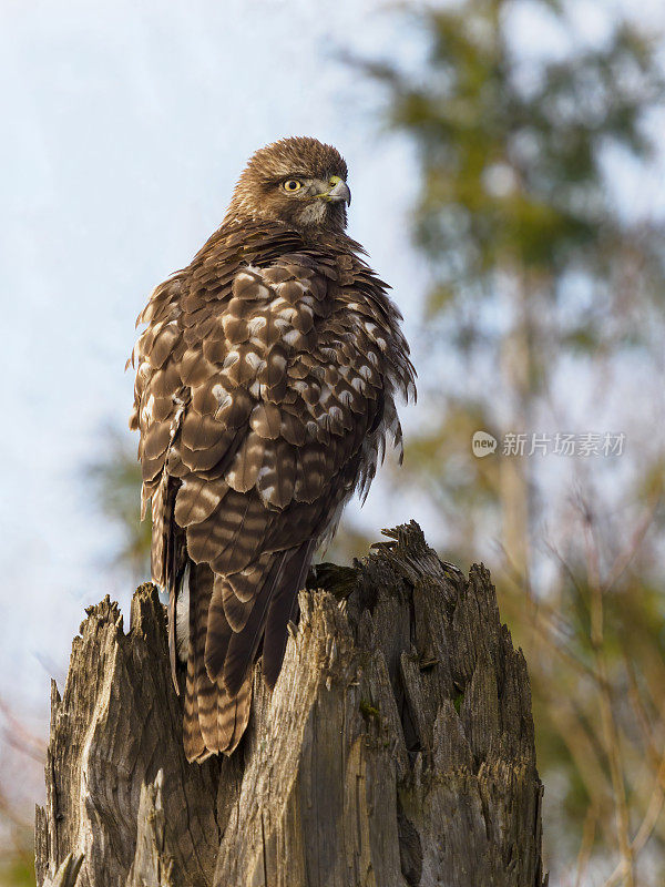
[[[173,599],[186,559],[197,564],[191,757],[239,741],[262,642],[273,684],[316,543],[371,479],[385,419],[399,432],[385,318],[362,277],[354,288],[350,268],[320,259],[237,263],[231,282],[226,265],[222,278],[202,262],[158,288],[143,318],[135,411],[153,575]]]

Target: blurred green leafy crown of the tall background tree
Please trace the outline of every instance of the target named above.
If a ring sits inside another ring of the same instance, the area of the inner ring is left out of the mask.
[[[641,122],[663,80],[651,42],[623,22],[601,49],[529,68],[510,44],[513,7],[469,0],[424,12],[422,81],[372,69],[390,86],[392,126],[417,141],[418,243],[452,293],[480,292],[510,267],[551,276],[579,263],[606,276],[626,223],[606,194],[603,151],[652,152]]]

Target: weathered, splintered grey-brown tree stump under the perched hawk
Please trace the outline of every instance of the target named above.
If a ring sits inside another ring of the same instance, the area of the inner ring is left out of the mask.
[[[489,573],[387,536],[313,571],[275,691],[257,666],[245,740],[203,766],[154,587],[129,634],[91,608],[53,685],[38,884],[542,887],[529,677]]]

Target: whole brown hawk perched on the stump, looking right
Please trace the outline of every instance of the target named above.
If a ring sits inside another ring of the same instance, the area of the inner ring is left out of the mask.
[[[222,226],[152,293],[131,361],[152,575],[186,662],[190,761],[231,754],[253,664],[273,687],[317,547],[361,495],[415,371],[387,285],[346,233],[339,152],[257,151]]]

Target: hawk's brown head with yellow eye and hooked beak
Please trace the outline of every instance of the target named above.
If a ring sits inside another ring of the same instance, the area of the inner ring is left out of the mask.
[[[283,222],[299,231],[341,231],[351,192],[347,165],[317,139],[282,139],[257,151],[235,187],[225,222]]]

